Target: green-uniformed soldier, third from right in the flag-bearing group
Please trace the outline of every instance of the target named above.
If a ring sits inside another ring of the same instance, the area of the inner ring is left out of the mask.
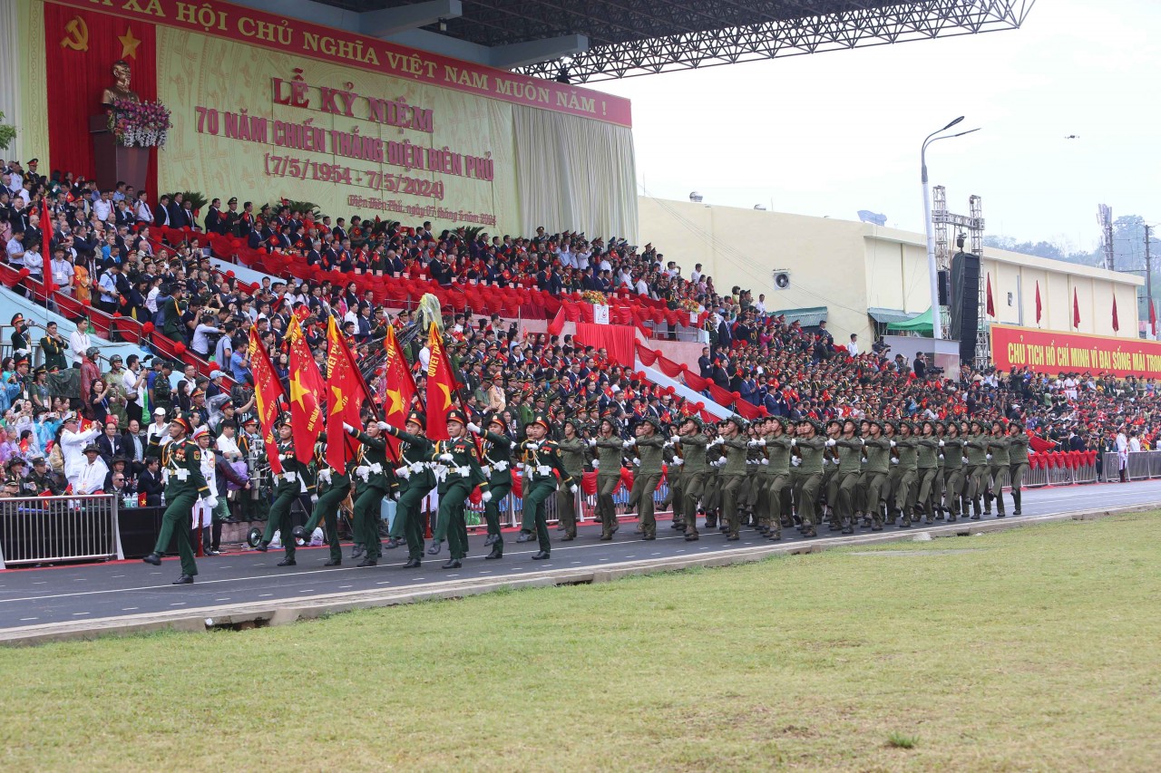
[[[435,441],[431,451],[432,468],[439,481],[439,514],[427,555],[439,555],[446,539],[452,557],[442,569],[460,569],[468,555],[468,526],[463,513],[468,497],[477,485],[485,504],[491,501],[492,493],[479,467],[475,440],[468,434],[468,417],[463,411],[448,411],[447,432],[449,439]]]

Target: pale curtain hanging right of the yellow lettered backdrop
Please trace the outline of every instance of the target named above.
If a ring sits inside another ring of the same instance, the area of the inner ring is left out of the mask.
[[[525,233],[543,225],[636,243],[632,129],[519,104],[512,127]]]

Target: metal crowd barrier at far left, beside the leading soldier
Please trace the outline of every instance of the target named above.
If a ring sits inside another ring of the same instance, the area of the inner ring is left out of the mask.
[[[118,526],[114,494],[0,499],[0,569],[124,558]]]

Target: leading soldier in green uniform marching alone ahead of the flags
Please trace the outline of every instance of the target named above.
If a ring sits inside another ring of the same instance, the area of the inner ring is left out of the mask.
[[[142,561],[154,566],[161,565],[161,554],[170,547],[174,532],[178,534],[178,555],[181,556],[181,577],[174,585],[188,585],[197,575],[194,561],[194,546],[189,539],[189,516],[194,505],[201,501],[204,506],[217,506],[217,497],[210,491],[202,476],[202,450],[189,440],[194,432],[189,419],[178,417],[170,422],[170,442],[161,446],[159,438],[150,439],[150,454],[161,457],[161,469],[165,470],[165,501],[168,505],[161,515],[161,530],[157,535],[153,552]]]

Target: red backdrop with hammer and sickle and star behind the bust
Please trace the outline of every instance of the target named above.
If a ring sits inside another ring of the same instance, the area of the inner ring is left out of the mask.
[[[143,101],[157,99],[153,24],[45,2],[44,37],[52,168],[92,178],[95,168],[88,118],[104,113],[101,92],[113,85],[113,63],[129,63],[129,87]],[[150,150],[147,187],[150,202],[156,204],[157,149]]]

